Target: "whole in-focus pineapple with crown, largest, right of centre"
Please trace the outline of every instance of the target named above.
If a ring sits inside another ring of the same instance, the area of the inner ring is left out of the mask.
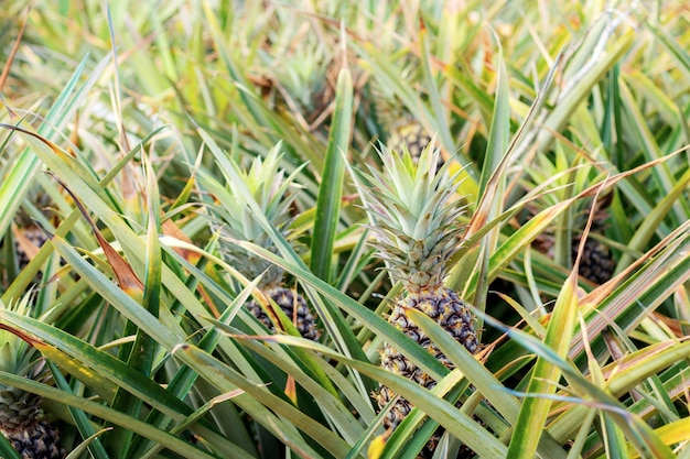
[[[405,289],[389,321],[452,368],[406,310],[421,310],[470,352],[477,350],[470,309],[455,292],[443,285],[448,264],[460,247],[457,218],[464,211],[462,200],[454,199],[456,177],[449,174],[448,166],[436,171],[440,152],[432,150],[432,144],[422,151],[417,162],[407,149],[402,154],[385,150],[380,156],[382,173],[370,167],[370,175],[363,174],[365,184],[359,192],[375,236],[373,245],[386,262],[392,280],[400,281]],[[381,364],[428,389],[436,384],[392,343],[385,345]],[[381,386],[377,395],[379,406],[384,407],[392,398],[390,389]],[[384,426],[395,428],[411,409],[407,400],[399,398]]]

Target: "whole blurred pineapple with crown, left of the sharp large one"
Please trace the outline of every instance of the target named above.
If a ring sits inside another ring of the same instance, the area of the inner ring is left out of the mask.
[[[282,159],[279,146],[273,147],[265,160],[256,157],[248,172],[241,171],[237,163],[228,159],[231,167],[235,167],[241,177],[241,183],[228,178],[227,188],[222,188],[215,183],[215,189],[218,190],[215,194],[219,205],[213,207],[215,223],[220,228],[223,236],[255,243],[271,252],[276,252],[273,241],[259,225],[249,203],[256,201],[267,220],[283,236],[287,236],[291,220],[290,207],[295,198],[295,193],[291,187],[297,172],[285,177],[285,171],[279,168]],[[211,177],[205,177],[205,179],[214,181]],[[256,278],[263,274],[259,289],[272,298],[288,317],[292,318],[295,328],[304,338],[319,339],[314,316],[302,295],[283,286],[283,271],[280,267],[231,243],[224,244],[222,250],[227,261],[248,278]],[[274,331],[272,320],[259,303],[251,300],[247,307],[271,331]]]

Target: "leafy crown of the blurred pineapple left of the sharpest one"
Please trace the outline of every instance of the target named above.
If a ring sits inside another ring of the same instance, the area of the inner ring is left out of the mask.
[[[263,273],[260,285],[263,288],[280,284],[282,270],[228,240],[251,242],[276,252],[273,241],[252,210],[252,201],[274,228],[283,236],[288,234],[288,227],[292,220],[290,207],[297,197],[297,193],[293,192],[294,177],[301,167],[287,176],[285,171],[280,168],[282,156],[279,143],[265,159],[257,156],[248,171],[241,170],[237,162],[228,156],[225,165],[231,167],[233,171],[226,171],[224,165],[219,164],[227,186],[220,185],[209,175],[202,176],[216,198],[216,204],[211,209],[213,223],[220,231],[222,243],[228,242],[222,245],[224,255],[250,278],[256,278]]]

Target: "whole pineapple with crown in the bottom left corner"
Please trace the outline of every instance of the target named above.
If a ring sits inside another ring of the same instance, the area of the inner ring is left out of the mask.
[[[20,314],[29,309],[29,295],[11,307]],[[0,304],[0,307],[4,305]],[[0,330],[0,370],[18,376],[40,380],[42,372],[36,352],[25,341]],[[23,459],[63,459],[65,450],[60,434],[44,419],[41,397],[0,383],[0,433]]]

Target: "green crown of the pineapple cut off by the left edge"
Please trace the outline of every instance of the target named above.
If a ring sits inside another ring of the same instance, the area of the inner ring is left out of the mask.
[[[20,302],[6,306],[0,302],[0,308],[17,314],[29,315],[29,297],[25,295]],[[0,329],[0,370],[17,375],[29,376],[35,367],[36,351],[26,341],[7,329]]]

